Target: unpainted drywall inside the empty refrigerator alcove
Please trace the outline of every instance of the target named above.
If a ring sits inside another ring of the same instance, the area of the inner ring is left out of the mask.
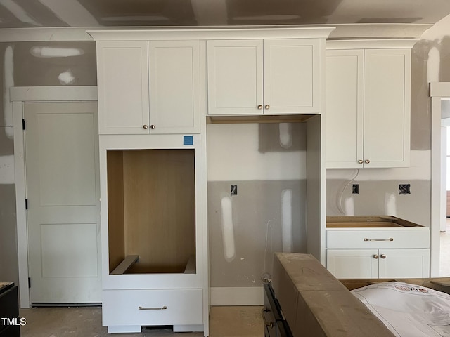
[[[210,285],[262,286],[274,252],[307,250],[305,125],[211,124],[207,157]]]

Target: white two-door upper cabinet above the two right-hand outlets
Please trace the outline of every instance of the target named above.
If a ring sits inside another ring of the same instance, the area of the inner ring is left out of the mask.
[[[326,52],[326,167],[409,166],[411,50]]]

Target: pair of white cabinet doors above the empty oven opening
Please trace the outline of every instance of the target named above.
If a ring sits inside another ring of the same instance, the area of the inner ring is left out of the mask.
[[[199,41],[97,41],[100,134],[199,133]]]

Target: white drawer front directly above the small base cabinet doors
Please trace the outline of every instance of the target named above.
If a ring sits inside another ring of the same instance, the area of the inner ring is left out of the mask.
[[[429,248],[429,230],[327,230],[328,249]]]

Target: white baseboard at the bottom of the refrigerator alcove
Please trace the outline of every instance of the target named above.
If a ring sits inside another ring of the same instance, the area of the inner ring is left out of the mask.
[[[211,287],[211,305],[263,305],[262,286]]]

